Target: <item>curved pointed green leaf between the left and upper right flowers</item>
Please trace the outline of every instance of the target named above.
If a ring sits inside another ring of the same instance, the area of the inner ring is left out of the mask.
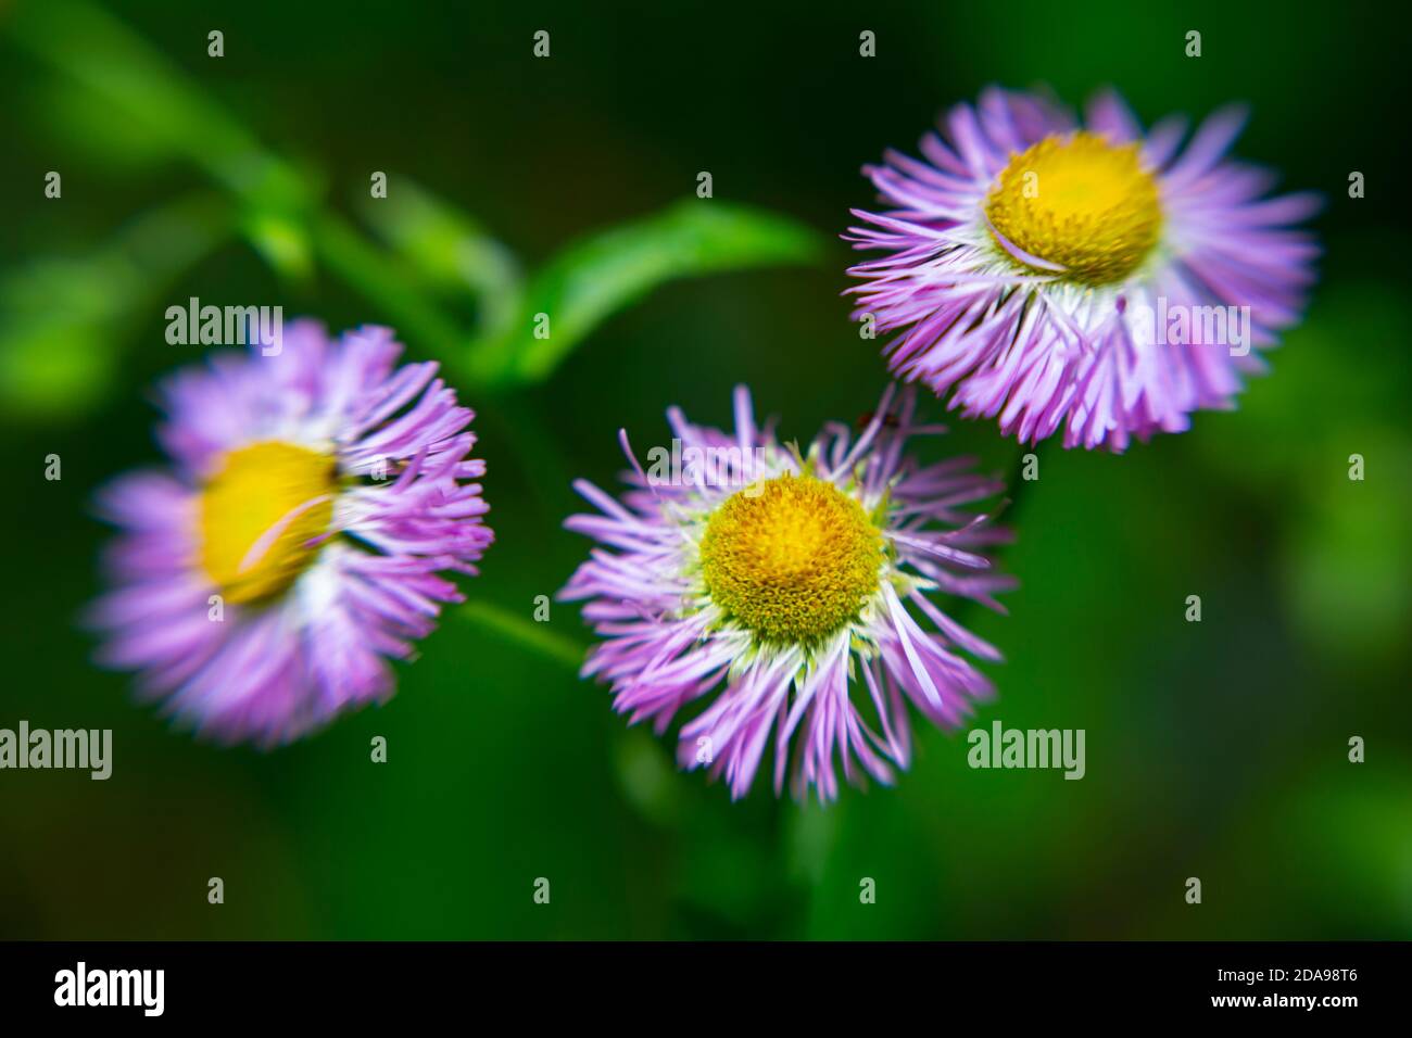
[[[674,278],[813,263],[823,243],[789,219],[719,201],[690,199],[569,246],[532,280],[514,328],[476,342],[473,377],[491,386],[538,383],[610,315]],[[535,338],[537,315],[549,335]]]

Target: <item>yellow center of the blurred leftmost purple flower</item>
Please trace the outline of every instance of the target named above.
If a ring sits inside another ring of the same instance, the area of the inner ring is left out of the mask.
[[[201,565],[226,602],[254,602],[294,583],[333,520],[335,460],[289,443],[226,455],[201,494]]]

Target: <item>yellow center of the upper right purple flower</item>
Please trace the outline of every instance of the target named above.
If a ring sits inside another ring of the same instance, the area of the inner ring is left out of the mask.
[[[1012,244],[1089,285],[1137,270],[1162,227],[1156,181],[1142,168],[1138,145],[1083,131],[1046,137],[1014,155],[986,199],[986,215]]]

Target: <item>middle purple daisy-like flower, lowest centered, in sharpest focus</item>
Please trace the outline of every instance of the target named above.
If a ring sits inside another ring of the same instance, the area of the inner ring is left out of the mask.
[[[645,472],[623,435],[621,501],[575,483],[602,513],[565,524],[599,541],[561,592],[586,600],[602,637],[583,675],[658,734],[710,698],[681,729],[678,758],[724,774],[731,798],[771,734],[777,795],[789,772],[795,797],[836,798],[836,760],[850,782],[891,784],[911,757],[908,702],[956,727],[991,693],[967,655],[1000,654],[932,599],[1004,612],[994,595],[1014,582],[984,549],[1005,534],[966,510],[1004,484],[967,458],[904,455],[909,436],[942,431],[915,422],[911,390],[890,388],[856,436],[826,425],[808,452],[755,425],[744,387],[734,412],[727,435],[669,410],[672,462],[657,449]]]

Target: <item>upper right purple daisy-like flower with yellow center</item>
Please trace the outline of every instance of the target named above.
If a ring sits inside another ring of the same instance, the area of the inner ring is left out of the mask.
[[[1274,178],[1226,158],[1228,109],[1182,147],[1185,123],[1144,134],[1114,93],[1080,126],[1066,110],[990,89],[959,105],[925,157],[888,151],[867,175],[894,206],[853,210],[844,236],[882,258],[849,273],[856,318],[899,332],[891,370],[953,391],[967,418],[1036,442],[1123,451],[1230,408],[1264,370],[1313,282],[1317,247],[1292,229],[1312,193],[1268,198]]]

